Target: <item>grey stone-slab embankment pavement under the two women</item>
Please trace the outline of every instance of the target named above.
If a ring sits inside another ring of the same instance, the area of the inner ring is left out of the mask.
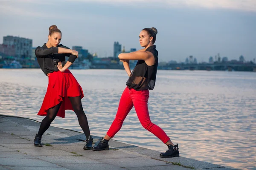
[[[160,152],[111,140],[110,150],[83,150],[83,133],[49,127],[44,147],[34,147],[40,123],[0,116],[0,170],[231,170],[184,157],[160,158]],[[101,137],[93,136],[97,144]]]

